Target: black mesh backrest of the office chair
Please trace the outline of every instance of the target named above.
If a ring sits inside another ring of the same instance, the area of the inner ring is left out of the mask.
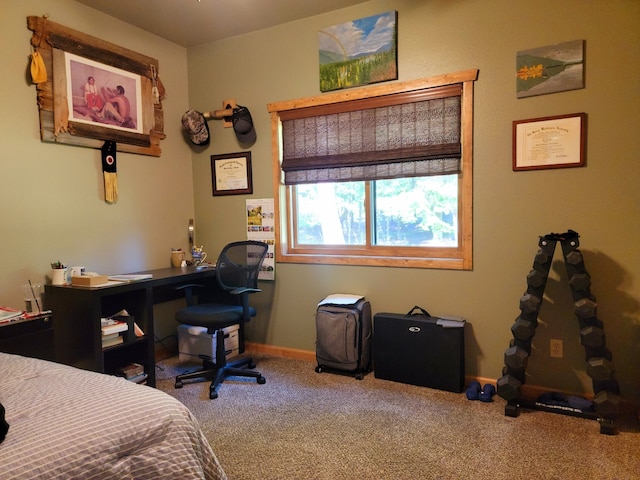
[[[220,252],[216,278],[225,290],[238,287],[257,288],[258,273],[267,254],[267,244],[255,240],[233,242]]]

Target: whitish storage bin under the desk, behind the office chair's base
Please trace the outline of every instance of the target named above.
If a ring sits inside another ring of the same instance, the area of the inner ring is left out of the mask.
[[[231,325],[224,329],[224,346],[227,350],[227,359],[233,358],[239,353],[238,325]],[[181,361],[201,362],[199,355],[207,355],[216,358],[216,334],[207,333],[205,327],[191,325],[178,325],[178,358]]]

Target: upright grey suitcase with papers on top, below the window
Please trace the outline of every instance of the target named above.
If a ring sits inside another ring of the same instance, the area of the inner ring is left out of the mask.
[[[351,295],[325,298],[316,310],[316,372],[352,374],[362,380],[371,366],[371,335],[369,301]]]

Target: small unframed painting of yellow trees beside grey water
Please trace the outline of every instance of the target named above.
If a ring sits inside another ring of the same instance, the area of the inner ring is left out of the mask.
[[[584,88],[584,40],[518,52],[518,98]]]

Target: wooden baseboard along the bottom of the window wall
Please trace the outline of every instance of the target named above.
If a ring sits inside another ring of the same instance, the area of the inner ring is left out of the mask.
[[[274,345],[265,345],[261,343],[251,343],[246,342],[246,350],[253,354],[264,354],[271,355],[274,357],[283,357],[283,358],[291,358],[294,360],[303,360],[306,362],[316,363],[316,352],[310,352],[308,350],[299,350],[296,348],[286,348],[286,347],[276,347]],[[496,385],[497,379],[495,378],[487,378],[487,377],[472,377],[465,376],[466,384],[472,380],[476,380],[480,383],[480,385],[485,385],[487,383],[491,383],[494,386]],[[543,393],[549,393],[553,390],[550,390],[546,387],[541,387],[539,385],[523,385],[522,386],[522,396],[526,399],[535,399],[538,398]],[[593,393],[575,393],[575,392],[561,392],[565,395],[577,395],[579,397],[585,397],[588,399],[593,398]],[[620,405],[620,413],[622,414],[636,414],[640,417],[640,406],[634,405],[632,402],[622,400]]]

